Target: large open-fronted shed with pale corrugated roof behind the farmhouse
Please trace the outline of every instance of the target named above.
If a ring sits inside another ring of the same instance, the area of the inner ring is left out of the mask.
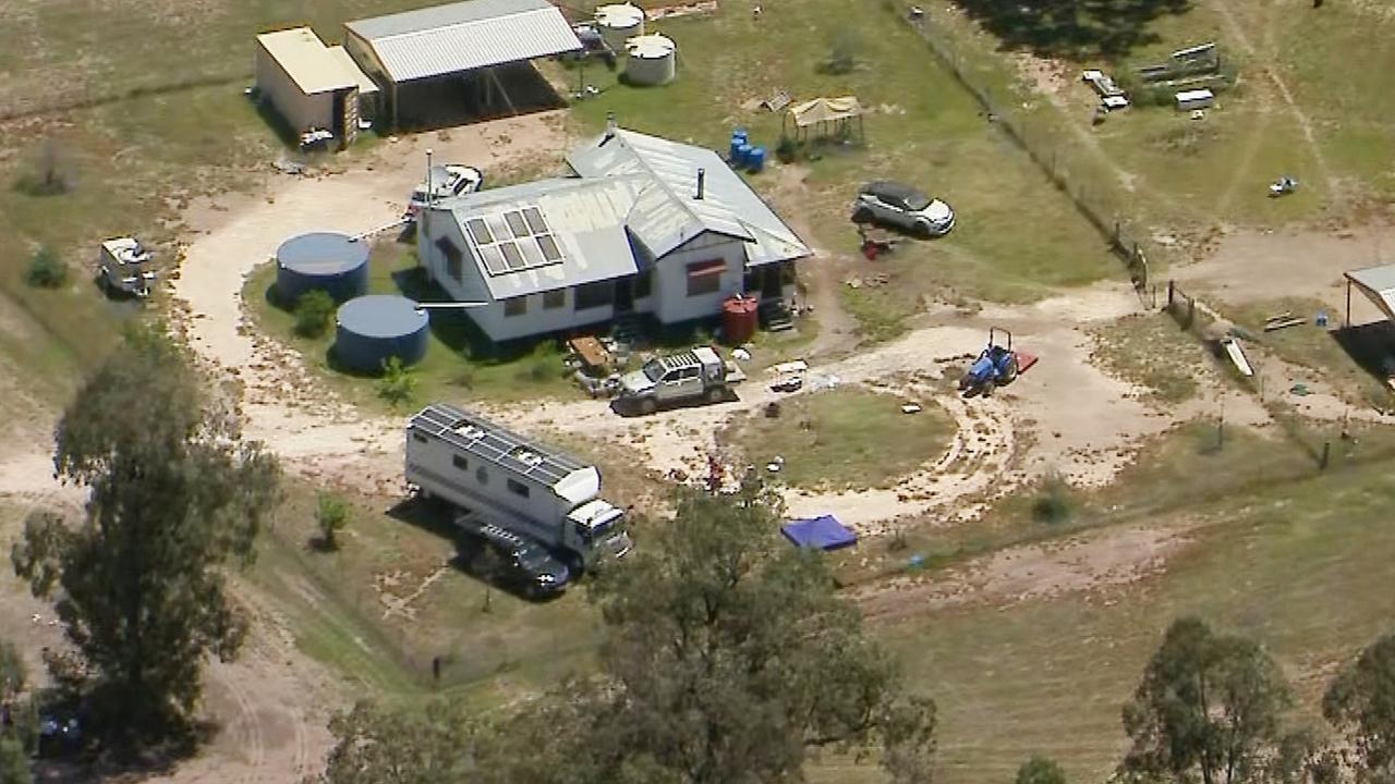
[[[580,52],[582,42],[548,0],[466,0],[346,22],[345,47],[385,89],[398,126],[428,112],[452,84],[481,110],[499,100],[512,107],[511,71],[531,74],[529,60]]]

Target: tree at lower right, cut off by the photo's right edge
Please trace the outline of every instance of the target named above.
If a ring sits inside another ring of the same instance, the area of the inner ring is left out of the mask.
[[[1375,640],[1332,681],[1327,717],[1350,742],[1367,781],[1395,781],[1395,635]]]

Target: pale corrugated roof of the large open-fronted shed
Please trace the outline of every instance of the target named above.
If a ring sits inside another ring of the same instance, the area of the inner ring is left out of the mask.
[[[396,82],[578,52],[582,42],[547,0],[467,0],[345,24]]]

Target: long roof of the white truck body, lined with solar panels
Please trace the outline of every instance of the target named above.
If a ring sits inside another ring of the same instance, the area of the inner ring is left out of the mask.
[[[565,452],[544,446],[446,403],[432,403],[421,409],[412,417],[410,427],[441,438],[492,466],[508,469],[548,487],[591,467]]]

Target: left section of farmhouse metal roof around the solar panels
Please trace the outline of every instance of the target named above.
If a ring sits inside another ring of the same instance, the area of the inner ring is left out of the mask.
[[[635,177],[551,179],[463,194],[441,199],[437,205],[449,211],[459,225],[490,297],[506,300],[639,272],[625,219],[643,184]],[[501,269],[497,261],[485,258],[491,243],[477,243],[470,223],[485,220],[498,225],[509,212],[529,211],[541,215],[562,258],[551,264]]]

